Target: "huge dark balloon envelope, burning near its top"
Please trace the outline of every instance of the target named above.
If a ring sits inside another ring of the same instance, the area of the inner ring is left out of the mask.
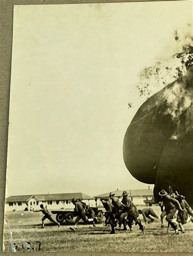
[[[125,165],[139,181],[155,184],[157,201],[171,185],[193,205],[192,71],[147,99],[125,133]]]

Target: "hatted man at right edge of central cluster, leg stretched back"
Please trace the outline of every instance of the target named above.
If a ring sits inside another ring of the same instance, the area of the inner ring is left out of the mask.
[[[127,210],[127,215],[136,222],[136,224],[139,225],[139,229],[143,232],[145,230],[145,226],[141,224],[141,221],[138,219],[136,211],[134,210],[134,207],[132,205],[132,201],[127,197],[128,194],[126,191],[123,191],[123,199],[121,201],[121,205],[123,205]]]

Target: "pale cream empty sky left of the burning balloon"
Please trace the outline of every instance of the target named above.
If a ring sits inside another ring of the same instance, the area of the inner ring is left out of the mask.
[[[148,188],[123,161],[128,102],[191,18],[184,1],[15,6],[6,196]]]

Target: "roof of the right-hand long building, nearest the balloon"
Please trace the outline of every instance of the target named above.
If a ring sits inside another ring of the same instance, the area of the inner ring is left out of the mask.
[[[153,189],[136,189],[136,190],[126,190],[129,196],[153,196]],[[115,194],[116,197],[121,197],[123,190],[115,190],[110,191],[112,194]],[[103,196],[109,196],[109,193],[107,192],[105,194],[100,194],[97,196],[94,196],[95,198],[101,198]]]

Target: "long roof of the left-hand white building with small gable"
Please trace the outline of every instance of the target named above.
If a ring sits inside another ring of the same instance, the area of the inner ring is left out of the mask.
[[[63,193],[63,194],[35,194],[35,195],[21,195],[21,196],[9,196],[5,200],[7,203],[12,202],[27,202],[31,198],[35,198],[37,201],[65,201],[75,199],[94,199],[92,196],[88,196],[83,193]]]

